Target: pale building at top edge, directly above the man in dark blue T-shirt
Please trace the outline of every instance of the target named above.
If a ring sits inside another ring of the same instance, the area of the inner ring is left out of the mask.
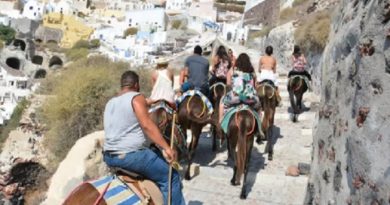
[[[217,10],[213,7],[212,0],[199,0],[193,2],[188,10],[188,28],[194,29],[199,33],[206,30],[218,30]]]

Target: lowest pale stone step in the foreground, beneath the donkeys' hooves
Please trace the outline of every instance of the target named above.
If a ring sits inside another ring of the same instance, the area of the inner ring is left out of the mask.
[[[262,170],[248,173],[248,198],[240,200],[241,186],[230,185],[231,167],[200,167],[200,175],[183,181],[187,203],[204,204],[303,204],[306,176],[262,174]],[[218,196],[218,197],[216,197]]]

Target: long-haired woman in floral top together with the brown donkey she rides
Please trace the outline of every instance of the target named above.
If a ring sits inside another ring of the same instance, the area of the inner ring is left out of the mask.
[[[227,135],[229,157],[234,158],[232,185],[239,185],[241,175],[244,182],[241,198],[246,198],[246,176],[253,147],[254,136],[260,135],[260,101],[255,90],[255,72],[249,56],[238,56],[236,67],[227,74],[227,86],[231,90],[222,98],[220,104],[220,122]]]

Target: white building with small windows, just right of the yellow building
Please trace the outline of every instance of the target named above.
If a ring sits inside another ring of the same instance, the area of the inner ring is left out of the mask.
[[[126,13],[125,28],[136,27],[138,31],[165,31],[166,16],[164,9],[155,8],[135,10]]]

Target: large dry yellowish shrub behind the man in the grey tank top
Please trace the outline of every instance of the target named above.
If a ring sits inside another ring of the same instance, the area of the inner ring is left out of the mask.
[[[49,129],[44,144],[53,153],[51,166],[57,166],[79,138],[103,128],[104,107],[119,90],[120,76],[128,69],[127,63],[94,56],[79,60],[61,75],[53,76],[48,91],[55,97],[48,99],[41,109]],[[141,86],[149,84],[150,71],[138,73]]]

